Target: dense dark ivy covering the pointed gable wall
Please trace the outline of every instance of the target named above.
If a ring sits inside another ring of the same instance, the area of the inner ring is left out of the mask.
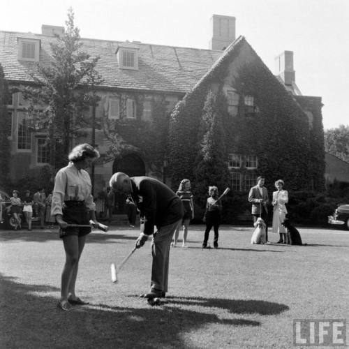
[[[243,45],[246,45],[248,50],[244,52],[248,52],[249,57],[239,57],[242,64],[234,66],[231,63],[238,57]],[[230,74],[229,69],[232,68],[235,71]],[[229,85],[239,94],[235,117],[228,114],[223,92],[223,84],[227,84],[229,76]],[[209,90],[214,90],[216,94],[217,110],[223,124],[224,137],[221,139],[224,140],[225,155],[257,156],[257,174],[265,176],[269,192],[275,190],[274,181],[280,178],[285,181],[288,191],[311,189],[314,183],[315,188],[322,189],[324,168],[322,164],[317,164],[318,159],[324,159],[320,117],[315,121],[318,126],[309,131],[308,117],[302,107],[244,40],[230,47],[172,112],[169,138],[172,183],[177,184],[183,178],[204,183],[213,180],[212,172],[201,170],[201,163],[195,161],[202,151],[202,142],[205,142],[202,120],[205,119]],[[244,105],[244,96],[253,96],[254,112]],[[317,140],[315,145],[311,143],[314,140]],[[228,156],[222,161],[226,169]],[[195,186],[200,184],[194,183]],[[195,197],[197,194],[200,196],[198,200],[203,202],[203,194],[195,193]]]

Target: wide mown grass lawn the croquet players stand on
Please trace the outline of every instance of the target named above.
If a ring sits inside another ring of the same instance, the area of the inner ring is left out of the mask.
[[[308,246],[251,245],[252,228],[223,226],[221,248],[202,250],[203,227],[191,226],[189,248],[171,250],[168,298],[155,307],[138,297],[149,290],[150,244],[113,284],[110,263],[138,230],[93,233],[76,285],[91,304],[70,313],[56,309],[58,233],[0,231],[0,348],[291,348],[293,319],[349,315],[349,232],[299,230]]]

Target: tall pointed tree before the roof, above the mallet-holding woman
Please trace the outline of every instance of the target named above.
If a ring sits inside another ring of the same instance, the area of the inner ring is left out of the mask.
[[[45,131],[50,163],[60,168],[66,163],[71,140],[89,126],[87,110],[97,103],[95,88],[103,82],[96,71],[99,57],[82,52],[79,29],[74,26],[72,8],[66,29],[51,43],[52,60],[40,62],[31,76],[35,87],[22,87],[29,101],[27,112],[33,131]],[[39,107],[38,107],[39,106]]]

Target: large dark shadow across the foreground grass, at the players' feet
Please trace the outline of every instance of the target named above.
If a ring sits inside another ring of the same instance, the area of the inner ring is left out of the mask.
[[[271,315],[288,309],[258,300],[176,297],[164,306],[125,301],[128,306],[91,304],[66,313],[57,309],[56,298],[45,295],[57,291],[17,283],[0,274],[3,348],[191,348],[184,343],[184,334],[198,331],[200,339],[200,332],[209,325],[260,326],[259,321],[233,318],[225,311],[225,318],[218,317],[217,311],[209,313],[207,307],[239,315]]]

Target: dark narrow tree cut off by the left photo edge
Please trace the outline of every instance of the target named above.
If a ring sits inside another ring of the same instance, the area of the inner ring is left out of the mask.
[[[8,168],[10,161],[10,135],[11,120],[6,107],[6,101],[10,97],[8,85],[0,64],[0,184],[3,185],[8,179]]]

